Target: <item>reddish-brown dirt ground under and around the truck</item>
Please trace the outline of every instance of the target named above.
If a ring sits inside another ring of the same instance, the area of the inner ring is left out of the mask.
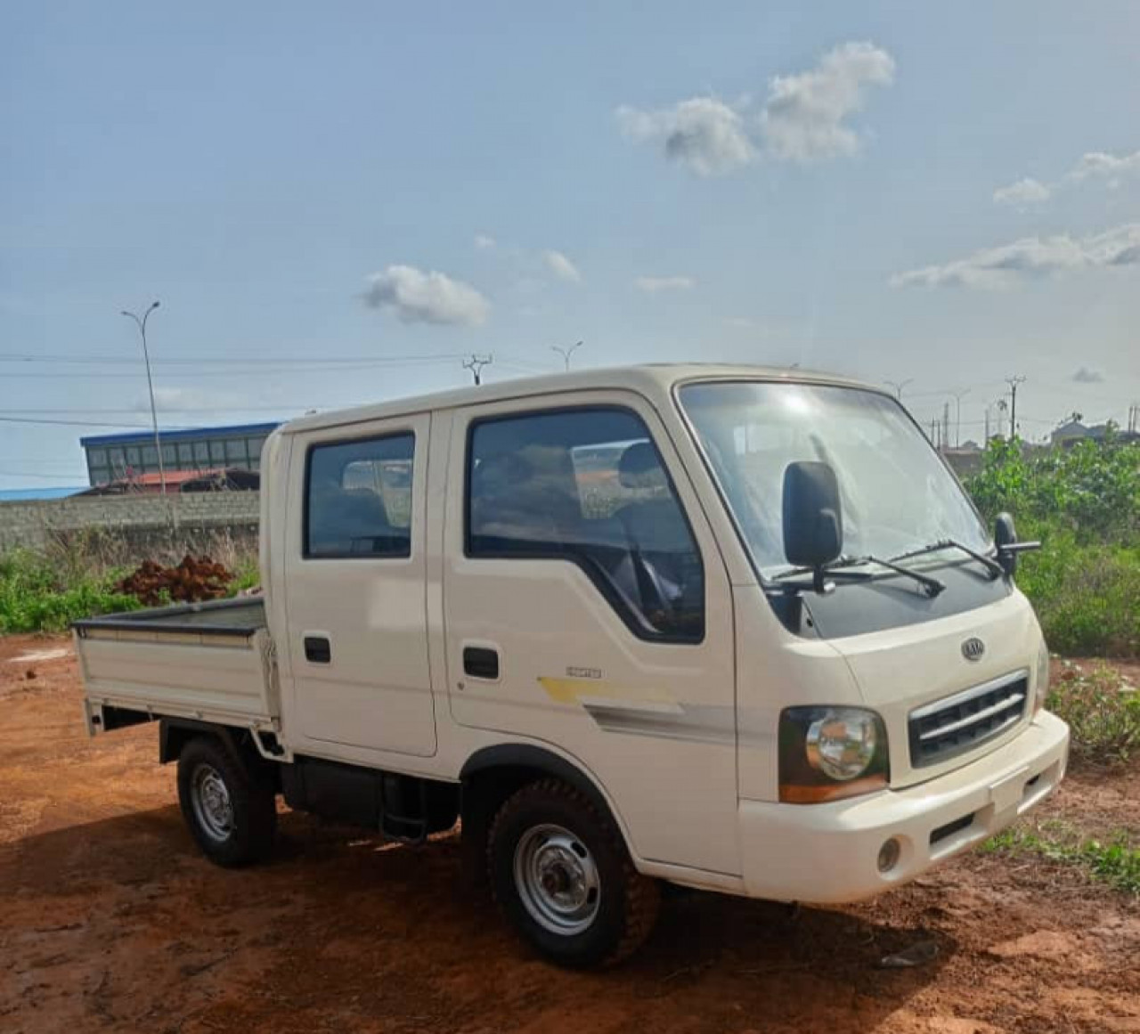
[[[849,909],[683,895],[634,961],[570,974],[472,898],[455,838],[285,814],[271,864],[215,869],[155,758],[153,726],[85,738],[66,640],[0,638],[8,1034],[1140,1032],[1140,906],[1040,860],[969,856]],[[1138,782],[1074,773],[1049,807],[1137,831]],[[919,942],[933,961],[878,967]]]

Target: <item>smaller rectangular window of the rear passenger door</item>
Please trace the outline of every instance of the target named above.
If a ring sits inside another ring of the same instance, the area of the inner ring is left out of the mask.
[[[415,435],[314,446],[304,555],[410,556]]]

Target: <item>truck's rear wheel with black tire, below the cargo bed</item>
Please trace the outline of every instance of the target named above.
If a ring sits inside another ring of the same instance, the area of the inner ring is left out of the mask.
[[[217,736],[195,736],[182,748],[178,804],[198,847],[218,865],[249,865],[272,850],[277,832],[272,783],[259,758],[242,763]]]

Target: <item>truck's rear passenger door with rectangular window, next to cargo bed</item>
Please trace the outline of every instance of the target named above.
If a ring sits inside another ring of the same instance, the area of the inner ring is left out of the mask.
[[[324,429],[291,459],[294,714],[320,743],[427,756],[424,512],[430,417]]]

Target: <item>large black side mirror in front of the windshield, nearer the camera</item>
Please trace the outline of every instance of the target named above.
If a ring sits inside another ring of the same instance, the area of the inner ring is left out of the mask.
[[[826,463],[800,461],[784,471],[784,556],[811,568],[815,591],[823,591],[823,567],[844,548],[842,506],[836,472]]]

